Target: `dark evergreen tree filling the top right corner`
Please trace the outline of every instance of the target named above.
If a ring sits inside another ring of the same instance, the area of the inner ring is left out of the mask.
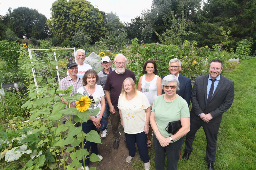
[[[222,26],[231,31],[229,47],[236,48],[237,42],[255,33],[255,10],[255,0],[208,0],[197,27],[200,33],[196,37],[198,44],[212,46],[223,41],[224,37],[220,36]]]

